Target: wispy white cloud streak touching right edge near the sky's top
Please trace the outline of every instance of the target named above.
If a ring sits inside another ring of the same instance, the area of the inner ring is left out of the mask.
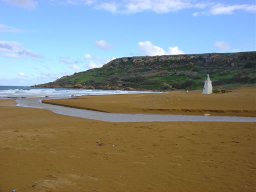
[[[243,10],[246,12],[256,12],[256,5],[248,5],[248,4],[234,4],[234,5],[223,5],[223,4],[215,4],[209,10],[210,14],[232,14],[235,10]]]

